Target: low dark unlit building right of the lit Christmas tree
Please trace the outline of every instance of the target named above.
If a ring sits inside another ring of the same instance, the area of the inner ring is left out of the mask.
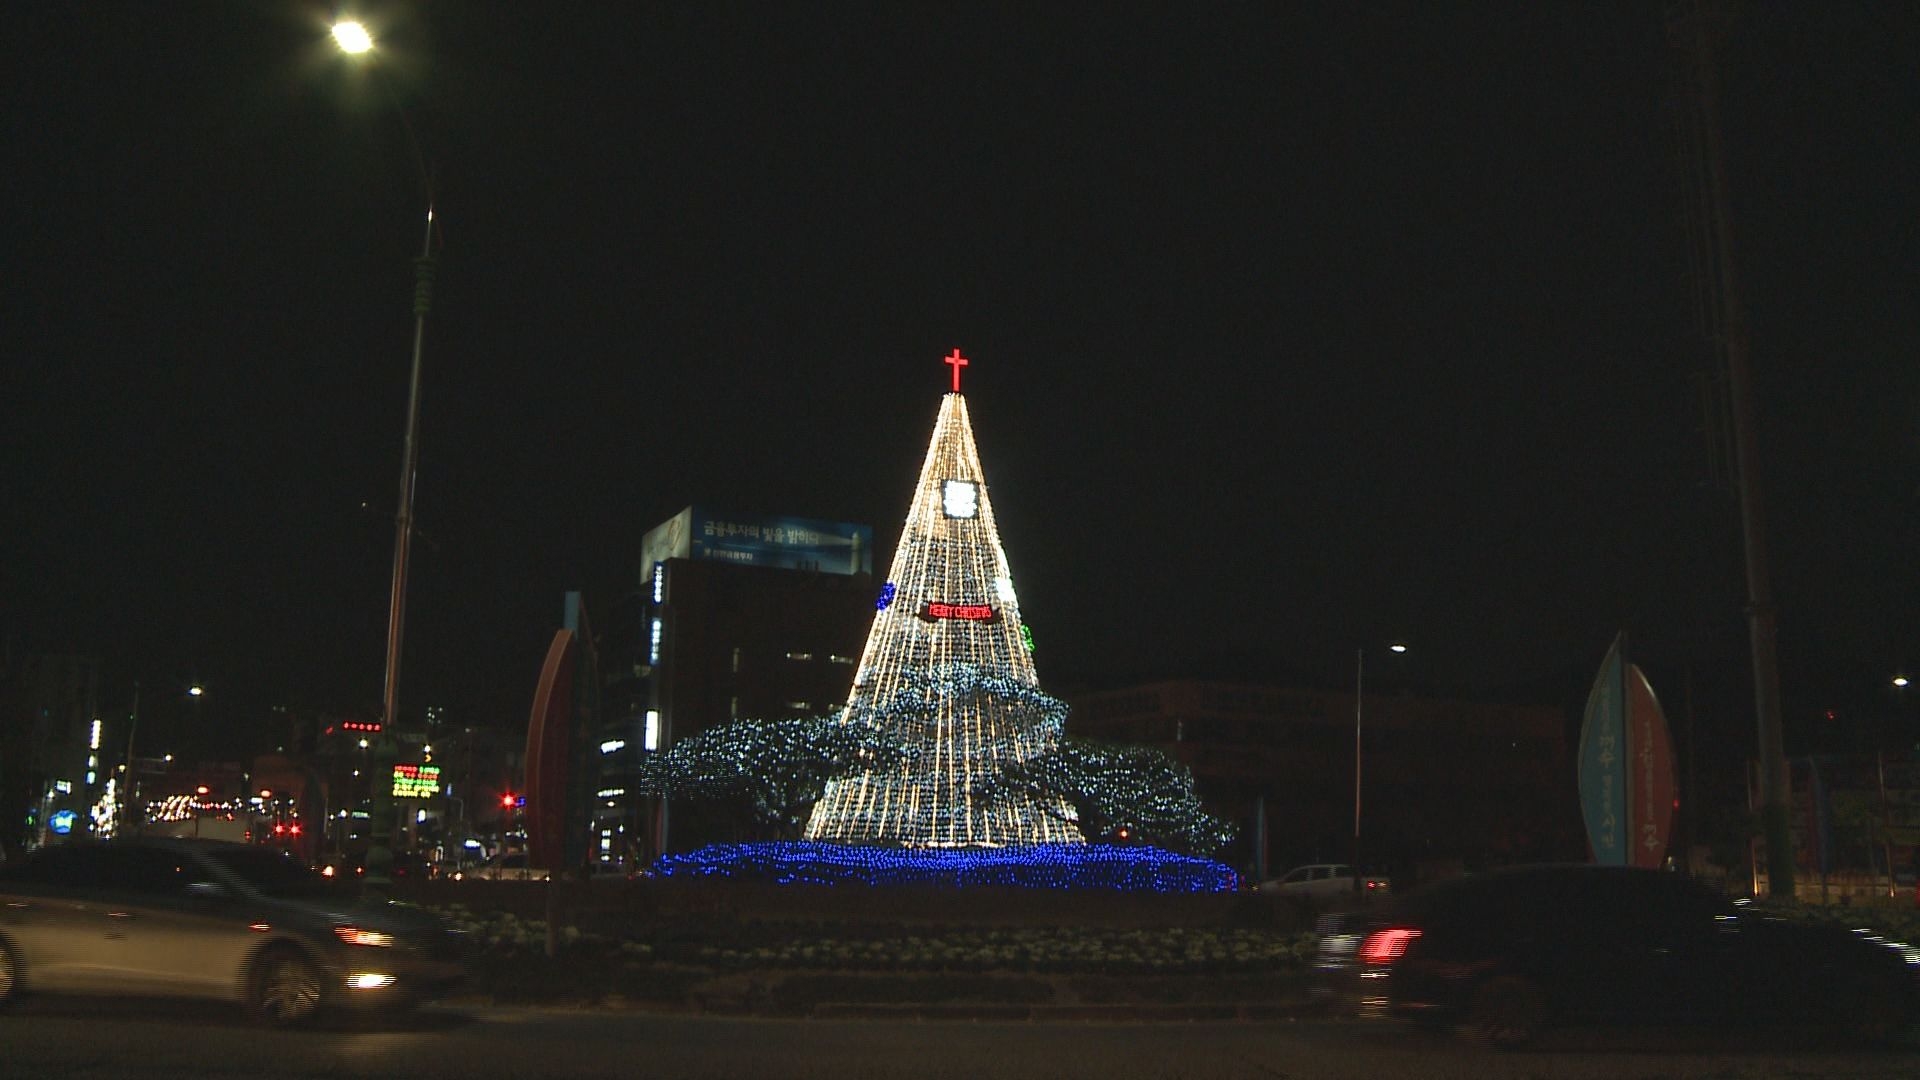
[[[1284,872],[1354,855],[1402,876],[1580,859],[1567,717],[1354,692],[1173,680],[1069,700],[1068,734],[1146,744],[1194,771],[1238,836],[1219,857]],[[1359,782],[1356,799],[1356,728]]]

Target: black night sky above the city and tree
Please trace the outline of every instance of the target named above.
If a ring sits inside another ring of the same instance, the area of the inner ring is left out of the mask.
[[[1405,640],[1369,673],[1561,703],[1626,628],[1747,751],[1665,6],[1031,8],[386,2],[372,73],[326,4],[12,10],[0,632],[205,753],[378,711],[411,125],[403,713],[524,724],[687,503],[883,571],[958,346],[1046,688]],[[1920,663],[1914,56],[1905,4],[1726,37],[1799,744]]]

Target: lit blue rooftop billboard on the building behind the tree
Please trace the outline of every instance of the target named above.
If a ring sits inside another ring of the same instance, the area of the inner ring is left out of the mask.
[[[874,527],[689,505],[641,540],[639,565],[705,559],[826,575],[874,573]]]

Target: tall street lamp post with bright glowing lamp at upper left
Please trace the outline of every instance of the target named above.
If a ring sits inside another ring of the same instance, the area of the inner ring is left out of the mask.
[[[334,42],[349,56],[372,54],[372,35],[355,21],[336,23]],[[386,609],[386,682],[380,694],[380,738],[372,759],[372,836],[367,849],[367,882],[390,884],[388,872],[394,865],[392,838],[392,786],[384,784],[384,773],[394,759],[394,717],[399,701],[399,646],[407,626],[407,565],[413,552],[413,475],[420,459],[420,361],[426,354],[426,315],[434,296],[434,186],[420,154],[420,140],[413,133],[407,111],[394,102],[401,125],[407,129],[407,142],[413,161],[420,171],[420,184],[426,188],[426,234],[420,242],[420,256],[413,259],[413,367],[407,377],[407,429],[399,452],[399,498],[394,511],[394,578],[388,592]]]

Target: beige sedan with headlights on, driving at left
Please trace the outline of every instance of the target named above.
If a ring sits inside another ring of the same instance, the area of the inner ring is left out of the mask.
[[[257,844],[75,842],[0,869],[0,1005],[23,992],[211,997],[296,1024],[445,995],[467,951],[440,917],[357,899]]]

